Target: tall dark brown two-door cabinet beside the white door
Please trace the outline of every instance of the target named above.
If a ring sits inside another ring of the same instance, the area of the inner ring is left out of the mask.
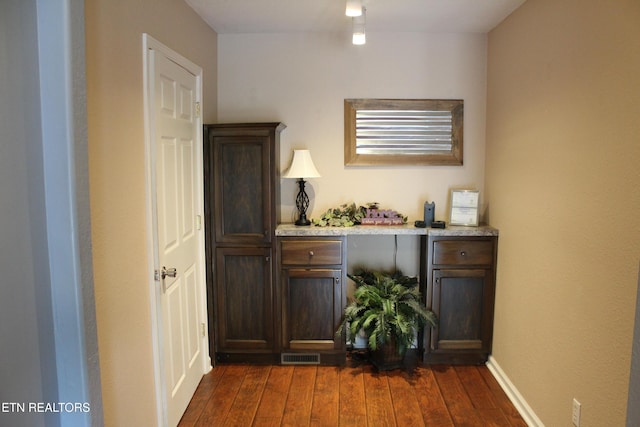
[[[210,349],[218,362],[275,363],[275,229],[282,123],[204,126]]]

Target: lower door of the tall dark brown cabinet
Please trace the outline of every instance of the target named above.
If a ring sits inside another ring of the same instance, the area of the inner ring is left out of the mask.
[[[216,249],[217,350],[273,350],[269,248]]]

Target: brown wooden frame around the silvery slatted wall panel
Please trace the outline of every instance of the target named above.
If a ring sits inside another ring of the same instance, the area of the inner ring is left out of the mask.
[[[451,149],[433,150],[429,154],[362,154],[356,150],[356,113],[358,110],[435,110],[452,115]],[[459,99],[345,99],[345,166],[380,165],[448,165],[463,164],[464,101]]]

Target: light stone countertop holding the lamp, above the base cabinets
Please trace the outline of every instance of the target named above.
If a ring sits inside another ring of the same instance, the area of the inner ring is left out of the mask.
[[[413,225],[355,225],[353,227],[317,227],[280,224],[276,236],[376,236],[376,235],[414,235],[414,236],[497,236],[498,230],[490,226],[447,228],[418,228]]]

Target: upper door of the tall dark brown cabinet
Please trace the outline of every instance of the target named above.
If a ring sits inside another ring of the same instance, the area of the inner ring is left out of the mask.
[[[216,243],[270,243],[272,139],[268,135],[211,138]]]

